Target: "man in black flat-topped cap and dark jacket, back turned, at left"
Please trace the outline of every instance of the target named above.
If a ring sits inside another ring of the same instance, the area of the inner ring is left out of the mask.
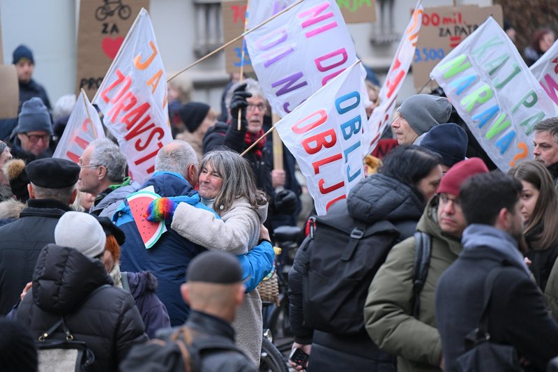
[[[59,218],[70,211],[80,166],[59,158],[31,161],[25,168],[29,200],[20,218],[0,228],[0,315],[6,315],[31,278],[40,250],[54,243]]]

